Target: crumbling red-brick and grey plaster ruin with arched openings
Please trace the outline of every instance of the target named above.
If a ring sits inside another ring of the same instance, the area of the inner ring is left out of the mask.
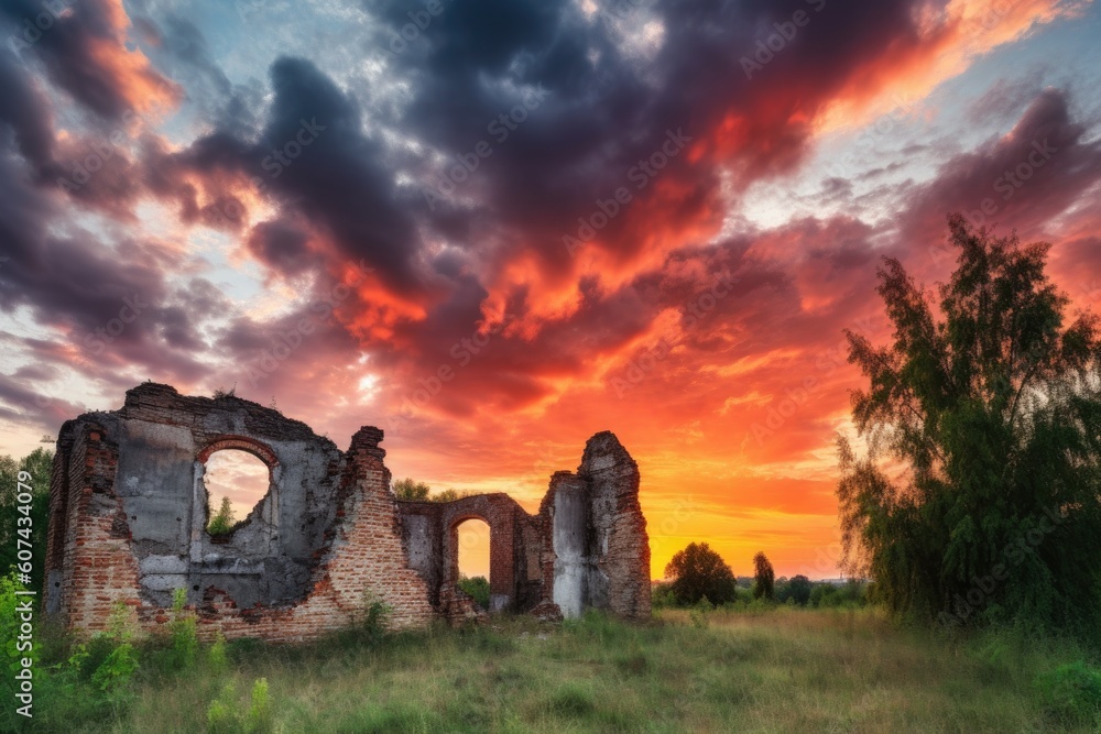
[[[391,609],[394,628],[487,612],[576,617],[586,609],[650,616],[650,544],[639,468],[611,432],[559,471],[538,514],[503,493],[404,502],[390,490],[382,430],[347,451],[304,423],[233,396],[145,383],[119,410],[62,427],[50,485],[44,600],[78,634],[103,629],[118,602],[154,631],[184,589],[207,638],[315,638]],[[239,449],[269,489],[228,536],[207,533],[207,459]],[[457,588],[458,526],[490,528],[491,609]]]

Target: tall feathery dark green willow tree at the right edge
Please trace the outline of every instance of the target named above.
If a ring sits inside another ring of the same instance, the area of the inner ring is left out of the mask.
[[[894,611],[948,624],[1020,621],[1098,638],[1101,341],[1069,318],[1047,243],[948,218],[955,272],[934,294],[884,259],[894,326],[847,331],[859,452],[839,438],[843,561]]]

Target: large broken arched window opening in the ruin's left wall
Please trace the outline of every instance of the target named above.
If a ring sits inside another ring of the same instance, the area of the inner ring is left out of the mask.
[[[203,474],[207,533],[226,536],[237,529],[268,493],[269,481],[268,464],[248,451],[222,449],[211,453]]]

